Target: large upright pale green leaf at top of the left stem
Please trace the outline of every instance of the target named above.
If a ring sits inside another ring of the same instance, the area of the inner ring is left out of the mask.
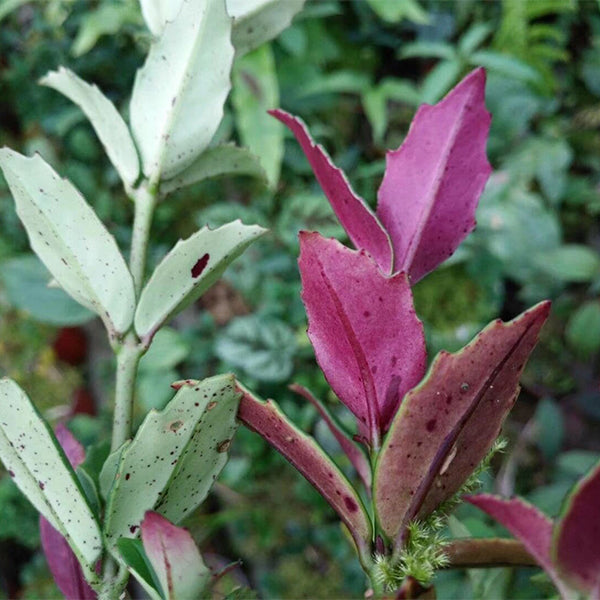
[[[224,0],[184,0],[138,71],[131,127],[153,184],[191,165],[210,143],[231,87],[231,19]]]

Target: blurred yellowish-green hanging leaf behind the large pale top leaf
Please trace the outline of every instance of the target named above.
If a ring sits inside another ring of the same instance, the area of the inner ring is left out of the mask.
[[[271,188],[277,185],[283,158],[283,125],[267,110],[279,106],[279,84],[270,46],[236,61],[231,99],[242,143],[257,156]]]

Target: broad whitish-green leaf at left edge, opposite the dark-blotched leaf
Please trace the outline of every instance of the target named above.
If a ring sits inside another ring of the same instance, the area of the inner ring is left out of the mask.
[[[77,189],[40,156],[0,150],[0,167],[31,247],[60,286],[114,336],[133,319],[133,280],[117,244]]]

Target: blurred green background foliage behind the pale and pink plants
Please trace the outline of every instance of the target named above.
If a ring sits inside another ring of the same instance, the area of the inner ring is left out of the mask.
[[[285,1],[285,0],[283,0]],[[39,77],[66,65],[126,111],[148,47],[134,0],[0,2],[0,143],[40,152],[70,178],[127,251],[130,201],[82,113]],[[476,66],[488,73],[494,174],[476,231],[415,289],[430,358],[491,319],[543,298],[553,311],[505,427],[507,450],[483,487],[519,493],[550,514],[600,456],[600,4],[585,0],[308,1],[292,26],[235,67],[219,140],[250,146],[264,181],[202,182],[157,210],[150,262],[206,223],[241,218],[271,229],[224,279],[157,337],[143,359],[138,418],[184,377],[237,373],[277,399],[343,462],[308,386],[344,419],[306,336],[297,232],[343,239],[299,147],[265,110],[301,116],[373,203],[385,151],[417,106],[437,102]],[[198,108],[201,110],[201,107]],[[112,358],[87,311],[30,253],[0,180],[0,370],[52,421],[73,416],[86,444],[108,435]],[[152,265],[150,265],[152,266]],[[240,430],[205,505],[186,523],[215,567],[241,559],[224,590],[240,597],[360,598],[362,573],[333,512],[256,435]],[[452,535],[501,534],[461,507]],[[35,511],[0,479],[0,597],[59,597],[38,551]],[[440,573],[439,598],[551,597],[535,569]],[[248,591],[248,588],[254,592]]]

